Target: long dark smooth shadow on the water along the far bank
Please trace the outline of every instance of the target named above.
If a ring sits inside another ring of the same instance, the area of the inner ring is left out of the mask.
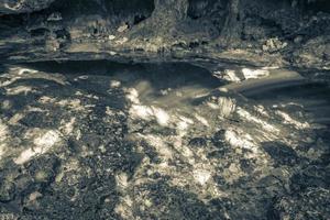
[[[143,79],[148,80],[156,88],[179,87],[191,84],[217,88],[221,85],[210,72],[188,63],[122,64],[108,61],[79,61],[42,62],[26,64],[25,66],[53,74],[128,77],[128,81]]]

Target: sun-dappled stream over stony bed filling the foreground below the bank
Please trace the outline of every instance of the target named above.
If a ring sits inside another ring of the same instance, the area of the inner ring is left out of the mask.
[[[188,64],[1,67],[0,219],[330,219],[330,87]]]

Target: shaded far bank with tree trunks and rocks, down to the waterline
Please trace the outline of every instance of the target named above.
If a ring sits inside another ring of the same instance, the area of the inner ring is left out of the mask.
[[[6,62],[193,55],[330,68],[330,7],[324,0],[14,2],[26,12],[36,11],[0,15],[0,57]]]

